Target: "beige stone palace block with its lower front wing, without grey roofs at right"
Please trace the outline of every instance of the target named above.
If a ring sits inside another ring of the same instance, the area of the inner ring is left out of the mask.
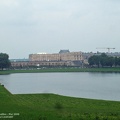
[[[82,66],[82,52],[70,52],[69,50],[60,50],[59,53],[30,54],[28,61],[12,61],[11,65],[15,67],[51,67],[51,66]]]

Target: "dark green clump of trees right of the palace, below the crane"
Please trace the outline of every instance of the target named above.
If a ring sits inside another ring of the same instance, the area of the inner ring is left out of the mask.
[[[107,56],[105,53],[101,55],[93,55],[88,59],[91,67],[113,67],[120,66],[120,57]]]

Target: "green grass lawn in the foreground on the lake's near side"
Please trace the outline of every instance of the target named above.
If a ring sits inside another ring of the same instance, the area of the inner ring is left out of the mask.
[[[13,120],[120,120],[120,102],[55,94],[12,95],[0,85],[0,119],[4,120],[3,117]]]

